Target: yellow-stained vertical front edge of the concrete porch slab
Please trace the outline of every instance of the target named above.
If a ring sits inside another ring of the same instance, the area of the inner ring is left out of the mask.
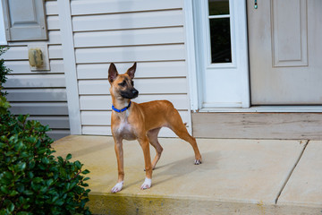
[[[93,214],[320,214],[321,209],[295,205],[249,202],[218,202],[203,198],[89,194]]]

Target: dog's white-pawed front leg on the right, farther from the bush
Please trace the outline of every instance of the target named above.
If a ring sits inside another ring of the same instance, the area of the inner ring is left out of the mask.
[[[149,152],[148,137],[145,136],[143,138],[140,138],[139,142],[140,142],[140,146],[142,147],[142,150],[143,150],[145,170],[146,170],[146,178],[140,188],[142,190],[145,190],[145,189],[150,188],[152,185],[152,165],[151,165],[151,157],[150,157],[150,152]]]

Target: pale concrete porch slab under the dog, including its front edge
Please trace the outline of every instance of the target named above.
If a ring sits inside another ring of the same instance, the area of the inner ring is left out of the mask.
[[[120,193],[110,193],[117,181],[112,137],[71,135],[53,147],[90,170],[94,214],[322,214],[322,142],[198,139],[199,166],[188,142],[159,142],[164,151],[144,191],[140,144],[123,142]]]

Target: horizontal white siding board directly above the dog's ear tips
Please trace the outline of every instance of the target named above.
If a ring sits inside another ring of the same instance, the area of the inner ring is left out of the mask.
[[[75,55],[79,64],[168,61],[185,58],[183,45],[78,48],[75,50]]]

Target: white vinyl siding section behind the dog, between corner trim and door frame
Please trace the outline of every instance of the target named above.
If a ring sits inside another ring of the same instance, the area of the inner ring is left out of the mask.
[[[119,73],[138,62],[134,101],[168,99],[191,128],[182,6],[182,0],[71,1],[82,134],[111,135],[112,62]]]

